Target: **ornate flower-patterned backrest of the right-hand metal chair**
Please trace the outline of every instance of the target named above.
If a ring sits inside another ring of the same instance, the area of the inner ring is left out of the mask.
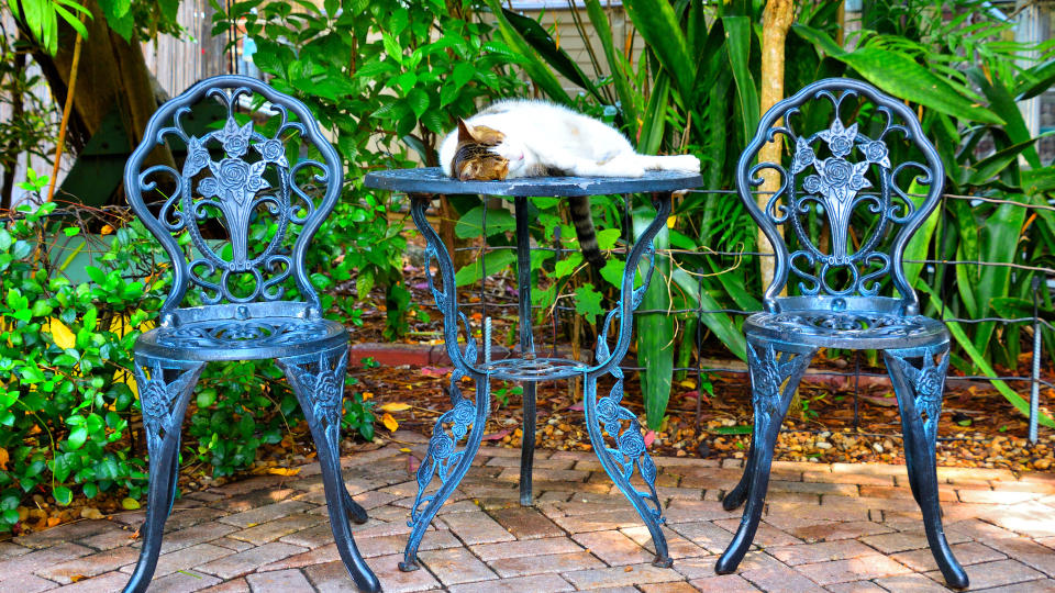
[[[755,164],[780,136],[784,161]],[[764,169],[776,171],[779,189],[763,210],[752,191]],[[775,104],[736,166],[740,197],[776,255],[766,310],[917,314],[902,256],[937,205],[944,177],[912,111],[866,82],[820,80]],[[780,296],[789,273],[800,294]]]

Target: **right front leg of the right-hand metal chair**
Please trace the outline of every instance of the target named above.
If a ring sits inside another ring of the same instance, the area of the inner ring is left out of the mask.
[[[940,356],[935,365],[934,357]],[[893,383],[901,410],[901,430],[904,434],[904,458],[909,484],[923,513],[926,541],[945,582],[955,589],[969,584],[967,573],[953,557],[942,527],[942,510],[937,497],[937,468],[934,446],[937,439],[937,418],[942,413],[942,394],[948,370],[948,344],[930,348],[885,350],[887,371]],[[910,360],[922,359],[917,368]]]

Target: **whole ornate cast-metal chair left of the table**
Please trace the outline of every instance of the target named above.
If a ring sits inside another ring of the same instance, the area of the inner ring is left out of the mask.
[[[268,135],[253,121],[235,120],[235,108],[254,98],[266,101],[262,112],[278,115]],[[191,105],[209,99],[223,108],[222,127],[193,121]],[[192,135],[191,125],[204,131]],[[145,165],[163,143],[174,154],[186,150],[181,169]],[[307,158],[315,154],[324,163]],[[132,209],[171,259],[173,287],[158,327],[135,343],[149,501],[126,592],[145,591],[157,566],[176,494],[180,425],[206,362],[269,358],[286,372],[311,427],[341,559],[360,590],[380,590],[352,539],[347,522],[365,523],[366,511],[345,490],[337,459],[348,334],[322,317],[304,270],[308,243],[336,204],[342,179],[337,154],[308,108],[252,78],[203,80],[151,118],[124,186]],[[159,192],[160,203],[147,205],[144,193]],[[253,222],[270,223],[273,234],[252,236]],[[181,235],[189,237],[182,246]],[[287,293],[290,278],[296,298]],[[191,286],[200,304],[181,306]]]

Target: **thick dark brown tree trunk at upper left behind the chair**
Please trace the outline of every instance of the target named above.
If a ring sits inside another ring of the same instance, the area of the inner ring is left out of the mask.
[[[91,11],[92,18],[85,20],[88,37],[81,46],[67,147],[74,154],[84,149],[92,134],[102,126],[107,114],[116,109],[131,153],[143,139],[151,115],[157,111],[151,72],[138,40],[133,36],[126,42],[111,31],[96,0],[87,0],[84,5]],[[62,24],[58,36],[55,56],[37,49],[33,59],[41,66],[56,101],[65,104],[76,33]],[[162,164],[175,166],[171,153],[164,145],[155,148],[146,161],[147,166]]]

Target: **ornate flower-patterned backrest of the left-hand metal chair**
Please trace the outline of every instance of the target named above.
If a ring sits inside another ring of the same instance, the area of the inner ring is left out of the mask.
[[[187,127],[202,126],[191,105],[212,99],[222,108],[220,121],[192,135]],[[240,108],[246,114],[236,119]],[[262,113],[276,118],[253,119]],[[145,164],[163,143],[174,155],[186,152],[178,169]],[[310,158],[315,155],[321,163]],[[281,310],[318,318],[319,295],[304,271],[304,254],[336,204],[342,181],[337,154],[308,108],[259,80],[209,78],[162,105],[124,171],[129,203],[173,261],[162,323],[186,311],[179,307],[191,284],[202,304],[233,307],[240,315]],[[156,200],[148,205],[144,194]],[[180,235],[189,237],[186,250]],[[290,276],[298,299],[286,299]]]

